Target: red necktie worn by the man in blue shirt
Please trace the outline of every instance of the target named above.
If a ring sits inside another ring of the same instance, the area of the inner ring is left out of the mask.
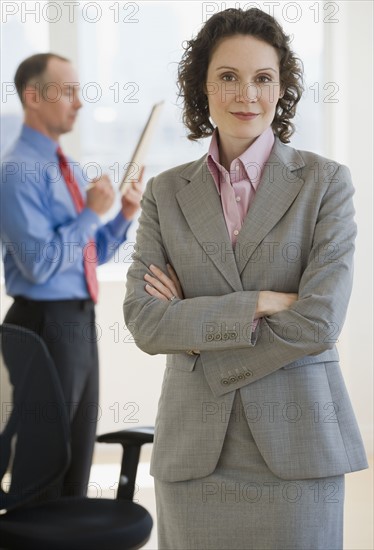
[[[59,160],[60,170],[69,189],[71,198],[73,199],[76,211],[79,213],[84,208],[84,201],[77,182],[75,181],[73,172],[70,170],[67,158],[61,150],[61,147],[57,149],[57,156]],[[89,254],[89,252],[91,252]],[[94,252],[94,253],[93,253]],[[93,258],[91,256],[94,256]],[[99,294],[99,285],[96,276],[97,266],[97,251],[96,243],[93,239],[90,239],[83,250],[83,266],[84,274],[86,277],[86,283],[88,292],[92,300],[96,303]]]

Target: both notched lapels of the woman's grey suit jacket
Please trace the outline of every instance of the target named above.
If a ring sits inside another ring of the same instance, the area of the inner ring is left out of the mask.
[[[299,177],[299,172],[304,166],[303,158],[295,149],[282,144],[279,139],[275,140],[238,236],[236,262],[230,261],[232,244],[221,200],[206,164],[206,155],[181,172],[180,176],[189,183],[177,193],[178,204],[202,249],[233,290],[243,290],[240,274],[258,245],[300,192],[304,181]]]

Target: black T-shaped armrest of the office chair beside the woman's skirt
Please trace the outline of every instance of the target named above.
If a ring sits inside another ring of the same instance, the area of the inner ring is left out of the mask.
[[[135,492],[135,479],[138,470],[140,449],[145,443],[152,443],[153,427],[129,428],[118,432],[99,435],[100,443],[120,443],[122,445],[122,463],[118,482],[117,498],[132,500]]]

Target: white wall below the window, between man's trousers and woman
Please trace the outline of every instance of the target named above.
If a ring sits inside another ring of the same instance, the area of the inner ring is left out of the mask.
[[[165,356],[147,355],[132,343],[123,321],[124,295],[124,281],[101,282],[100,432],[153,425],[164,372]]]

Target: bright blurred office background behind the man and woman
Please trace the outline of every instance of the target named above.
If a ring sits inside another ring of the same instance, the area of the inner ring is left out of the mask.
[[[209,140],[189,142],[181,122],[176,75],[183,43],[217,11],[251,6],[278,19],[291,35],[292,47],[304,64],[306,90],[291,145],[348,165],[356,187],[359,234],[355,283],[338,347],[348,391],[371,456],[372,2],[3,1],[1,152],[16,138],[22,123],[22,109],[13,84],[15,70],[24,58],[51,51],[68,57],[78,71],[83,108],[74,131],[64,136],[63,145],[84,165],[89,177],[108,173],[118,187],[151,107],[161,100],[164,106],[147,154],[145,181],[171,166],[202,156]],[[111,215],[108,213],[108,217]],[[138,350],[123,322],[126,271],[136,225],[135,222],[129,241],[113,261],[99,269],[100,432],[152,425],[160,393],[165,358],[150,357]],[[9,302],[2,279],[2,317]],[[97,448],[98,467],[114,462],[112,459],[105,446]],[[148,459],[149,453],[145,453],[145,475]],[[365,531],[363,520],[370,517],[369,475],[365,472],[348,476],[358,481],[352,489],[348,487],[352,490],[350,502],[354,504],[350,517],[355,521],[346,537],[346,548],[373,548],[370,529]],[[110,474],[108,486],[114,483],[112,477]],[[151,481],[146,483],[151,487]],[[366,495],[364,516],[355,505],[354,494],[357,502]],[[357,538],[362,529],[363,538]]]

